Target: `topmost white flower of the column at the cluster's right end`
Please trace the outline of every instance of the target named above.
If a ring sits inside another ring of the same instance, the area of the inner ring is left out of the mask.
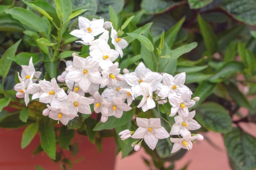
[[[189,90],[187,86],[184,85],[186,79],[186,73],[179,73],[176,76],[170,74],[163,74],[163,87],[160,90],[158,96],[167,97],[169,94],[176,93],[181,95],[182,93]],[[191,92],[192,94],[192,92]]]

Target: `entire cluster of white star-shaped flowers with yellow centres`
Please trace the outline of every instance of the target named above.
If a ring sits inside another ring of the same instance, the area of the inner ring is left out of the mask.
[[[118,37],[111,22],[104,22],[103,19],[90,21],[79,17],[79,30],[74,30],[70,34],[81,38],[82,41],[77,43],[89,45],[90,56],[83,58],[73,54],[73,60],[66,62],[67,68],[57,77],[61,85],[67,86],[65,88],[61,88],[55,78],[50,82],[39,80],[40,72],[35,71],[31,57],[29,66],[22,66],[20,83],[14,87],[17,91],[16,96],[24,97],[26,105],[31,94],[32,99],[39,98],[39,102],[47,104],[43,115],[67,125],[68,121],[78,116],[78,112],[91,114],[89,105],[93,103],[94,112],[101,113],[101,122],[104,123],[109,116],[120,118],[124,111],[131,110],[132,101],[139,96],[142,96],[142,100],[137,107],[142,108],[144,112],[155,108],[156,102],[166,103],[168,97],[172,106],[170,116],[178,113],[170,133],[161,126],[160,119],[137,118],[138,129],[135,132],[128,129],[122,131],[119,134],[121,139],[139,139],[133,143],[134,149],[139,150],[143,139],[151,149],[154,149],[158,139],[181,135],[183,138],[170,138],[174,142],[172,152],[180,148],[190,150],[191,141],[202,139],[201,135],[191,136],[189,132],[200,128],[192,119],[195,111],[188,111],[199,98],[191,99],[192,92],[184,85],[185,72],[173,77],[167,73],[153,72],[141,62],[134,72],[124,69],[124,74],[120,74],[119,63],[114,61],[119,55],[123,57],[122,49],[126,48],[128,43],[124,38]],[[100,36],[95,39],[97,35]],[[115,49],[110,48],[109,37]],[[37,80],[38,84],[35,83]],[[66,88],[67,93],[64,90]],[[99,88],[104,88],[101,94]],[[91,95],[88,98],[85,97],[87,93]]]

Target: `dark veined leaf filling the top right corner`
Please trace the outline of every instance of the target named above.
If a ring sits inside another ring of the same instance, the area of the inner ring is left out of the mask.
[[[254,0],[224,0],[221,8],[238,21],[249,25],[256,24],[256,3]]]

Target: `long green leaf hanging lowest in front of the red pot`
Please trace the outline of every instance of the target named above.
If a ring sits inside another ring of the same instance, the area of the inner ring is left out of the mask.
[[[56,157],[56,136],[54,127],[51,125],[43,125],[39,127],[41,147],[46,154],[51,158]]]

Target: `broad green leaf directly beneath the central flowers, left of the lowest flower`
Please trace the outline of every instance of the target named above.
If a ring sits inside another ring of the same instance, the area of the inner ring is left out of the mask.
[[[108,118],[108,120],[105,123],[98,122],[93,130],[99,131],[103,129],[113,129],[118,126],[125,125],[127,122],[132,120],[134,112],[135,112],[135,109],[124,112],[121,118],[116,118],[114,116],[111,116]]]

